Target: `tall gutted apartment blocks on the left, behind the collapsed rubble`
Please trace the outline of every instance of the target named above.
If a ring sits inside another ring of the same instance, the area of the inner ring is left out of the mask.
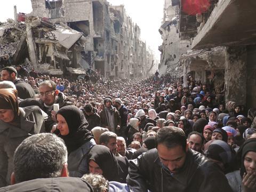
[[[124,79],[154,73],[153,52],[124,6],[106,0],[31,0],[33,12],[82,33],[83,45],[70,47],[71,67],[92,67],[104,77]],[[149,68],[151,68],[149,70]]]

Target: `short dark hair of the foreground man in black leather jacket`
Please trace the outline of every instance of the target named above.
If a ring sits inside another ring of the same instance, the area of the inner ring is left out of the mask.
[[[185,133],[177,127],[163,127],[156,134],[157,145],[163,144],[167,148],[181,146],[186,151],[187,140]]]

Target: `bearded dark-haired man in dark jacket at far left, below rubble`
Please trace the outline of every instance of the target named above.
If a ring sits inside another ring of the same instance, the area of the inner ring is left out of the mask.
[[[21,99],[34,98],[35,91],[28,83],[25,83],[23,79],[17,78],[17,70],[13,67],[4,67],[1,70],[1,80],[11,81],[15,84],[18,91],[18,97]]]

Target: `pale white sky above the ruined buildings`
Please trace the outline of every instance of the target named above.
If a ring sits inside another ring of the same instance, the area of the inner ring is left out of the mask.
[[[0,21],[14,18],[13,6],[17,12],[30,13],[31,0],[0,0]],[[4,3],[3,3],[4,2]],[[163,20],[164,0],[108,0],[112,5],[124,4],[127,14],[141,29],[141,38],[154,51],[156,58],[160,59],[158,46],[162,45],[161,35],[158,32]]]

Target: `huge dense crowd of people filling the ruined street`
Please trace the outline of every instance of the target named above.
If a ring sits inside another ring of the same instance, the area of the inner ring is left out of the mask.
[[[212,85],[17,70],[1,70],[0,191],[256,190],[256,110]]]

